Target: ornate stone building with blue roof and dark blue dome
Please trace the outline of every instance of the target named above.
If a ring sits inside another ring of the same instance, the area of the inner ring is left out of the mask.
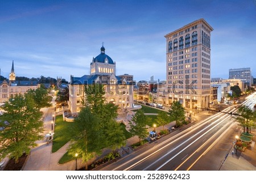
[[[119,113],[133,108],[133,82],[127,82],[125,78],[115,75],[115,62],[105,54],[102,45],[101,53],[90,62],[90,75],[71,75],[68,105],[72,115],[80,112],[82,100],[85,99],[84,87],[96,83],[104,84],[106,101],[118,105]]]

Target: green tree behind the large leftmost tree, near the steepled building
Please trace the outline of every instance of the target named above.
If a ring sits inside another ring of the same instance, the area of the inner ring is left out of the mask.
[[[51,107],[52,96],[48,95],[48,91],[44,88],[29,90],[26,95],[31,95],[35,100],[36,108]]]

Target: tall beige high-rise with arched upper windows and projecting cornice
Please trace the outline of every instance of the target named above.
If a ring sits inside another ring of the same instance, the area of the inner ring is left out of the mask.
[[[189,23],[166,36],[168,101],[186,108],[208,108],[210,103],[210,32],[204,20]]]

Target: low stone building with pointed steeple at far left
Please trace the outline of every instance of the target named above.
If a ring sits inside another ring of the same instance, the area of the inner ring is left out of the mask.
[[[25,94],[28,90],[36,90],[40,85],[36,81],[15,81],[14,62],[11,66],[9,81],[0,81],[0,102],[8,101],[16,94]]]

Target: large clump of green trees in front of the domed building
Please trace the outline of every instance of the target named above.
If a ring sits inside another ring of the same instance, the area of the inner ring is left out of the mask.
[[[75,119],[77,127],[73,129],[74,132],[80,134],[73,139],[69,154],[73,155],[75,152],[79,152],[79,156],[84,162],[87,162],[94,155],[99,154],[104,147],[115,150],[125,145],[125,134],[116,122],[118,107],[113,103],[106,102],[103,85],[85,86],[83,105],[84,108]],[[87,125],[87,122],[91,123]],[[82,136],[86,136],[86,138]],[[88,146],[89,144],[90,146]]]

